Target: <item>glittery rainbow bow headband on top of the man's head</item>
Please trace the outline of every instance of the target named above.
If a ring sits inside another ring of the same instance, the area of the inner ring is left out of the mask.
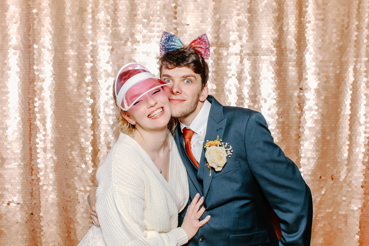
[[[210,45],[206,34],[197,37],[188,46],[192,47],[204,59],[209,59]],[[179,38],[169,32],[163,32],[162,38],[160,39],[160,56],[163,56],[168,51],[183,47],[184,45]]]

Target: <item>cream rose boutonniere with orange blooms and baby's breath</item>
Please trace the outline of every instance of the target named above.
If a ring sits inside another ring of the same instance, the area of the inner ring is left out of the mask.
[[[208,162],[207,167],[210,169],[211,176],[211,167],[214,167],[215,171],[220,171],[223,169],[224,164],[227,162],[227,156],[231,157],[232,155],[232,146],[228,143],[222,142],[219,140],[219,135],[217,139],[214,141],[206,141],[203,142],[203,147],[205,152],[205,158]]]

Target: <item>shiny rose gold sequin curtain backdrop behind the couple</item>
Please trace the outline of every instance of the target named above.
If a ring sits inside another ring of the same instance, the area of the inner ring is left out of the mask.
[[[369,0],[2,0],[0,245],[77,245],[114,73],[207,33],[210,94],[261,111],[314,200],[312,245],[369,245]]]

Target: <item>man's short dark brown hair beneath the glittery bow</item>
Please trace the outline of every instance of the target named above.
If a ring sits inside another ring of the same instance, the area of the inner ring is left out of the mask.
[[[166,52],[159,59],[159,63],[160,75],[163,67],[166,69],[173,69],[176,67],[191,68],[194,73],[199,74],[201,77],[201,89],[205,87],[209,79],[209,67],[207,63],[204,58],[190,46]]]

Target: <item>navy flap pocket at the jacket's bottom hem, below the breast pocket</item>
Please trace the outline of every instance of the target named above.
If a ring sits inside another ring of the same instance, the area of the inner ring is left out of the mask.
[[[258,246],[269,243],[266,230],[248,234],[231,234],[231,246]]]

